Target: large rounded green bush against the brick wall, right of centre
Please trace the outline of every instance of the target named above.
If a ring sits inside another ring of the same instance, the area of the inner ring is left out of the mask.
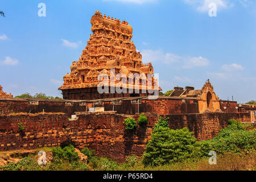
[[[146,145],[142,156],[143,164],[159,166],[198,158],[200,148],[195,143],[196,138],[187,128],[171,130],[168,127],[168,118],[160,118],[152,132],[151,140]]]

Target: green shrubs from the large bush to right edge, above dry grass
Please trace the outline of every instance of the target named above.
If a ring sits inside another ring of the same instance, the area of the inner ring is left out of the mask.
[[[242,124],[234,119],[222,129],[216,138],[197,142],[187,128],[171,130],[167,119],[160,118],[153,130],[151,140],[143,154],[145,166],[160,166],[185,160],[208,157],[210,151],[217,155],[255,154],[256,130],[251,124]]]

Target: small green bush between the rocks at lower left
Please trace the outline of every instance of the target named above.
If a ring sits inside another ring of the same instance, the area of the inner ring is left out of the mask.
[[[68,160],[69,162],[76,162],[79,160],[79,155],[75,152],[75,147],[71,144],[64,148],[52,148],[52,156],[54,159],[63,159]]]

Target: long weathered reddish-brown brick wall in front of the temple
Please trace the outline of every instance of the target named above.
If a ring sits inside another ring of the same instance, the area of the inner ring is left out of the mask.
[[[76,147],[88,147],[97,155],[109,156],[123,162],[128,155],[141,156],[147,140],[151,138],[155,122],[161,115],[146,114],[147,126],[137,130],[125,130],[124,119],[139,115],[123,114],[84,114],[75,121],[69,121],[67,114],[35,114],[0,116],[0,151],[43,146],[59,146],[67,139],[75,142]],[[228,125],[228,119],[239,118],[250,122],[250,113],[205,113],[172,114],[169,117],[171,129],[188,127],[198,140],[211,139],[218,131]],[[23,123],[24,133],[18,125]]]

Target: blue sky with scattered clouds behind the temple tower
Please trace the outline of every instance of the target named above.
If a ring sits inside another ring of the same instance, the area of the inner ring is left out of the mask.
[[[38,16],[42,2],[46,17]],[[209,3],[217,16],[209,16]],[[6,15],[0,17],[0,85],[14,96],[61,96],[57,88],[86,47],[90,18],[99,10],[129,22],[164,91],[200,89],[209,78],[222,100],[256,100],[254,0],[5,0],[0,10]]]

